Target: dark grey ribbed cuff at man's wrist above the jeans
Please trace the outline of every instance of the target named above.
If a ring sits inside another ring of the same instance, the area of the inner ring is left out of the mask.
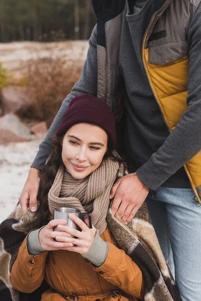
[[[171,175],[161,170],[152,157],[137,170],[139,179],[150,189],[158,189]]]

